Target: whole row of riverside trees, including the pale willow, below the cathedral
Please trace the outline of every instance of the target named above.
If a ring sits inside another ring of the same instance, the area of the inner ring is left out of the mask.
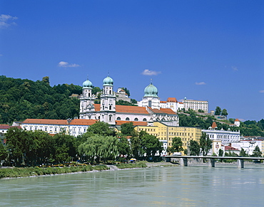
[[[131,142],[128,142],[128,137]],[[6,146],[0,144],[0,160],[14,166],[59,164],[73,160],[99,164],[116,157],[121,161],[142,156],[153,160],[156,152],[162,152],[162,146],[157,137],[145,131],[136,132],[131,122],[121,125],[121,133],[116,133],[105,122],[96,122],[78,137],[65,132],[51,136],[41,130],[32,132],[12,127],[6,133]]]

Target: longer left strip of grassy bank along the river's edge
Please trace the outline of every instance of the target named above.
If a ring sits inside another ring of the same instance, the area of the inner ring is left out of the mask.
[[[17,177],[27,177],[27,176],[41,176],[41,175],[52,175],[52,174],[68,174],[78,171],[92,171],[92,170],[106,170],[109,169],[108,166],[98,165],[98,166],[64,166],[64,167],[25,167],[25,168],[1,168],[0,169],[0,179],[4,178],[17,178]]]

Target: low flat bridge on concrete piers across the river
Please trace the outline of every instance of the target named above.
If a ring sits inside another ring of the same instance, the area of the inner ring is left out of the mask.
[[[264,157],[245,157],[245,156],[180,156],[180,155],[171,155],[165,156],[166,161],[171,161],[171,158],[180,159],[181,166],[188,166],[188,158],[194,159],[208,159],[208,166],[215,167],[215,159],[236,159],[238,163],[238,168],[244,168],[245,159],[257,159],[264,160]]]

